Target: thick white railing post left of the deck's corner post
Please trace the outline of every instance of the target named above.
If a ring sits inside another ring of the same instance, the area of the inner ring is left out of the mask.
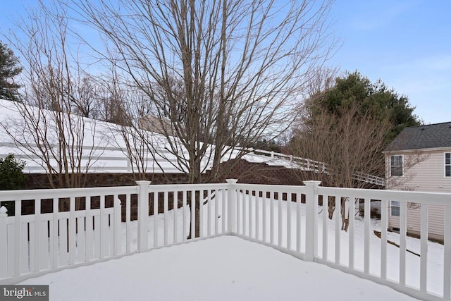
[[[138,180],[138,252],[147,251],[149,247],[147,229],[149,228],[149,184],[148,180]],[[154,212],[156,219],[156,212]]]

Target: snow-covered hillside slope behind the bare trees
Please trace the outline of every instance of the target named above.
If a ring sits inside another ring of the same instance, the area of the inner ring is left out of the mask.
[[[17,159],[25,161],[24,172],[26,173],[47,173],[46,163],[41,159],[43,147],[39,141],[35,140],[35,133],[32,133],[33,128],[30,127],[30,121],[23,117],[19,111],[20,106],[17,106],[11,101],[0,99],[0,157],[7,154],[14,154]],[[47,141],[56,151],[58,147],[58,132],[54,123],[54,112],[47,110],[38,110],[36,108],[26,106],[30,111],[35,112],[42,117],[39,120],[39,128],[42,133],[47,135]],[[47,117],[46,117],[47,116]],[[73,117],[79,118],[79,117]],[[38,118],[35,118],[38,119]],[[47,121],[45,120],[47,119]],[[89,172],[97,173],[132,173],[137,170],[136,164],[130,160],[130,154],[127,151],[127,143],[121,131],[121,126],[104,121],[96,121],[89,118],[83,118],[84,137],[82,138],[82,164],[89,166]],[[28,123],[28,126],[25,125]],[[74,122],[76,123],[76,121]],[[44,131],[44,128],[47,130]],[[69,128],[69,127],[68,127]],[[132,133],[132,128],[126,128],[125,132]],[[8,133],[9,132],[9,133]],[[158,149],[151,153],[147,149],[142,149],[144,145],[135,145],[135,152],[140,152],[144,157],[145,163],[143,168],[147,173],[183,173],[180,168],[178,160],[180,158],[187,159],[186,152],[180,149],[180,152],[175,156],[168,151],[168,141],[166,137],[159,133],[153,133],[143,130],[147,139],[152,141],[152,145]],[[69,138],[67,138],[69,137]],[[66,139],[70,139],[70,131],[66,133]],[[173,138],[177,139],[177,138]],[[75,138],[76,140],[76,138]],[[211,156],[209,154],[213,151],[213,147],[209,149],[206,158],[202,161],[202,168],[206,171],[211,165]],[[234,159],[237,152],[229,152],[223,157],[223,161]],[[58,152],[56,152],[58,156]],[[293,161],[290,156],[278,154],[274,156],[271,152],[259,151],[246,154],[242,159],[250,162],[266,163],[273,166],[284,166],[287,168],[299,168],[299,160]],[[55,159],[49,160],[51,166],[57,166]]]

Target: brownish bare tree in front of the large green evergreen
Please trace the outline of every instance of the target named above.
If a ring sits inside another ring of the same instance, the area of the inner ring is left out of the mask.
[[[302,180],[316,176],[316,180],[334,187],[367,188],[369,181],[362,175],[384,176],[380,166],[389,124],[376,122],[369,114],[362,116],[359,111],[359,107],[353,105],[338,114],[315,113],[307,128],[295,130],[290,141],[293,154],[325,162],[325,168],[299,173]],[[329,201],[329,217],[332,218],[335,200]],[[341,199],[341,202],[342,229],[346,230],[349,216],[345,208],[349,200]]]

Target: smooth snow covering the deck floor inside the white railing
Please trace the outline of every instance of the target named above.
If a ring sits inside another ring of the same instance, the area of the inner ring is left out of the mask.
[[[66,269],[50,300],[414,300],[391,288],[232,236]]]

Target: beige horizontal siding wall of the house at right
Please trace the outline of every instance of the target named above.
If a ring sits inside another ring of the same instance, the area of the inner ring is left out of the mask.
[[[399,153],[404,155],[404,164],[412,165],[410,168],[404,167],[403,177],[390,177],[390,155],[386,156],[387,166],[387,189],[391,190],[414,190],[426,192],[451,192],[451,177],[445,177],[445,152],[450,149],[440,149],[428,152]],[[418,158],[419,163],[414,164]],[[422,161],[421,161],[422,160]],[[451,200],[450,200],[451,202]],[[408,204],[407,206],[407,231],[419,235],[421,209],[418,204]],[[443,240],[444,229],[444,209],[443,206],[431,205],[428,207],[428,236],[438,240]],[[399,218],[388,214],[389,228],[399,228]]]

